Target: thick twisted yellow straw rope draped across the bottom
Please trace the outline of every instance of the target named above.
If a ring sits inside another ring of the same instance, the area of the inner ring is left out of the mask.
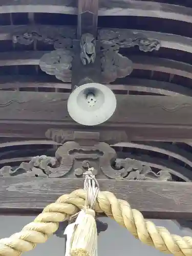
[[[55,203],[45,207],[42,213],[22,231],[13,234],[10,238],[1,239],[0,255],[17,256],[32,250],[38,243],[46,242],[57,230],[59,222],[69,219],[70,215],[74,215],[84,206],[85,198],[86,192],[82,189],[59,197]],[[99,191],[95,211],[104,212],[144,244],[177,256],[192,255],[191,237],[182,238],[170,234],[164,227],[156,227],[153,222],[144,220],[141,212],[132,209],[129,203],[117,199],[108,191]]]

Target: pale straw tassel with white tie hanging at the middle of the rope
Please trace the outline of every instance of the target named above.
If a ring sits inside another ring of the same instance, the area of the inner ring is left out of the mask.
[[[89,168],[84,173],[84,190],[86,190],[86,203],[79,212],[75,223],[69,224],[65,230],[67,234],[65,256],[97,256],[97,226],[95,211],[93,210],[99,184]]]

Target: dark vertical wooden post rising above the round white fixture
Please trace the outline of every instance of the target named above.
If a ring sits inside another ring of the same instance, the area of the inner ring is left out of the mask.
[[[97,39],[98,0],[78,0],[77,39],[73,40],[72,90],[85,83],[100,82],[100,44]],[[89,35],[93,37],[90,39]],[[82,46],[82,36],[84,45]],[[87,41],[86,41],[87,40]],[[83,65],[82,52],[90,57],[90,49],[95,51],[94,61]]]

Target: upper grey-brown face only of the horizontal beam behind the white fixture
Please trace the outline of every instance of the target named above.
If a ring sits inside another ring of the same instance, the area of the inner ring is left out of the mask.
[[[68,93],[1,92],[0,120],[60,122],[77,126],[67,111]],[[117,110],[107,125],[153,124],[192,127],[192,98],[117,95]],[[126,110],[126,111],[125,111]],[[106,124],[102,124],[105,126]],[[101,126],[102,126],[101,125]],[[111,125],[110,125],[111,126]]]

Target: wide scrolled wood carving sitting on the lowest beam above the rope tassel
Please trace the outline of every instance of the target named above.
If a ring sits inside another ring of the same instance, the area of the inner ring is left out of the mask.
[[[155,173],[138,160],[116,158],[115,150],[105,142],[82,146],[78,142],[68,141],[57,149],[55,158],[37,156],[17,168],[4,166],[0,169],[0,176],[81,178],[91,166],[97,179],[172,180],[166,170]]]

